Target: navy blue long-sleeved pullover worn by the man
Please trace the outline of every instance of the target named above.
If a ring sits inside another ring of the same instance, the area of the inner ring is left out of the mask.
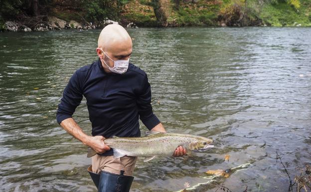
[[[139,119],[149,130],[160,123],[153,113],[147,74],[132,63],[124,74],[106,73],[99,59],[78,69],[58,105],[58,123],[72,117],[83,96],[93,136],[139,137]],[[103,155],[112,154],[111,150]]]

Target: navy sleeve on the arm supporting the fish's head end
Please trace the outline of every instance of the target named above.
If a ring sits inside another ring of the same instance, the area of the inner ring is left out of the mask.
[[[151,105],[151,87],[148,82],[148,77],[145,75],[142,89],[137,99],[140,119],[151,130],[160,123],[159,119],[155,116]]]

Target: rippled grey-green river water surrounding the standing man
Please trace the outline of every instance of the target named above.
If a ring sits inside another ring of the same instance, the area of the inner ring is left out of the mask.
[[[199,192],[286,192],[311,164],[311,28],[138,28],[131,62],[145,70],[168,132],[214,140],[207,153],[139,159],[131,192],[174,192],[208,170],[251,163]],[[87,147],[56,122],[75,70],[97,59],[100,30],[0,33],[0,191],[96,192]],[[74,118],[91,133],[86,101]],[[146,127],[141,124],[142,135]],[[225,161],[229,155],[229,161]]]

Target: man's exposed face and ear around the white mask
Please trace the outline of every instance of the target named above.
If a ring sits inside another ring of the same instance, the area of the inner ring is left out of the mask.
[[[107,57],[105,53],[111,58]],[[101,60],[104,60],[107,65],[110,67],[114,67],[114,61],[113,60],[128,60],[131,57],[132,54],[132,40],[125,40],[125,41],[112,41],[107,46],[104,46],[103,48],[97,48],[97,53],[99,53],[99,57]],[[110,72],[108,67],[103,63],[102,66],[104,67],[106,72]]]

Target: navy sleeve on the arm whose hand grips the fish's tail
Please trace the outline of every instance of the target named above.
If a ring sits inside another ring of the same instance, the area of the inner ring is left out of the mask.
[[[64,93],[63,98],[58,105],[56,120],[60,124],[63,120],[71,118],[78,105],[83,98],[81,91],[81,83],[77,71],[70,78]]]

